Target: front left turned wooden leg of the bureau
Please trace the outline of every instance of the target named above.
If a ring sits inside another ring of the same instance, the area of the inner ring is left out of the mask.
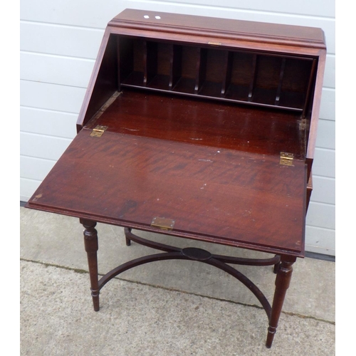
[[[95,230],[96,222],[91,220],[80,219],[85,230],[84,246],[88,255],[88,266],[90,275],[90,289],[93,298],[94,310],[99,310],[99,287],[98,287],[98,231]]]

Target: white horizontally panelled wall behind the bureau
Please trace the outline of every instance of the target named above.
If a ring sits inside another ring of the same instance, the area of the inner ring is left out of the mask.
[[[217,4],[217,5],[216,5]],[[335,1],[21,0],[20,200],[27,201],[75,136],[108,21],[147,9],[323,28],[323,85],[306,250],[335,256]]]

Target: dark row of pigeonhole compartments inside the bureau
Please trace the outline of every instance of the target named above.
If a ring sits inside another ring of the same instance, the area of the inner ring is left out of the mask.
[[[119,85],[305,112],[313,58],[118,36]]]

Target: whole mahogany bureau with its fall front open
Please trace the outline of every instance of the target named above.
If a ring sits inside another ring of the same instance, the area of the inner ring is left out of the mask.
[[[304,256],[325,53],[320,28],[131,9],[108,23],[78,135],[26,204],[80,219],[95,310],[105,283],[129,268],[201,261],[256,295],[271,347],[292,265]],[[99,278],[98,222],[159,253]],[[177,248],[132,229],[271,258]],[[272,305],[231,264],[274,266]]]

